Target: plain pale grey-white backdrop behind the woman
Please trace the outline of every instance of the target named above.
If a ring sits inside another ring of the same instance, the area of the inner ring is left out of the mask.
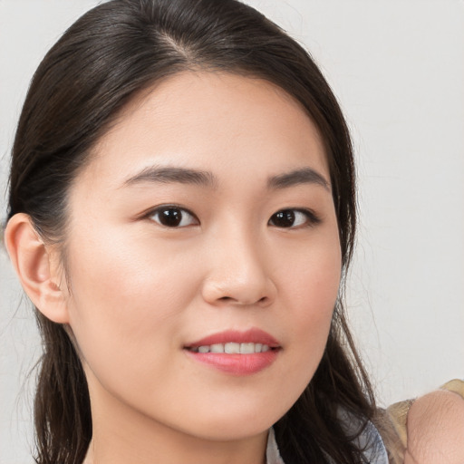
[[[253,0],[313,54],[353,132],[348,281],[381,404],[464,377],[464,2]],[[95,0],[0,0],[0,191],[34,69]],[[0,251],[0,464],[32,462],[34,316]]]

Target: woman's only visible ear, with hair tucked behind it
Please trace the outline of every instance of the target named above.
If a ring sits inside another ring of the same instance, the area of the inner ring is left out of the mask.
[[[18,213],[8,221],[5,247],[35,307],[53,322],[67,324],[67,290],[60,288],[58,253],[43,243],[28,215]]]

